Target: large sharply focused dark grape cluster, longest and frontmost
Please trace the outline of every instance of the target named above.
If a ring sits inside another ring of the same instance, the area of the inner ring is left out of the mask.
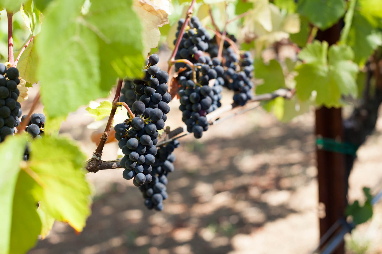
[[[168,73],[160,70],[158,62],[159,56],[152,54],[144,67],[144,78],[133,80],[137,99],[131,107],[134,117],[114,127],[118,146],[125,155],[121,159],[121,167],[125,168],[123,177],[134,178],[136,186],[152,181],[150,173],[157,154],[158,130],[164,128],[166,114],[170,112]]]

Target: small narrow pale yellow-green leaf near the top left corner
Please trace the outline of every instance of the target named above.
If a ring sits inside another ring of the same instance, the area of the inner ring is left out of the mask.
[[[36,35],[41,30],[40,14],[41,12],[37,10],[36,5],[33,0],[28,0],[21,5],[20,8],[21,16],[23,17],[24,23],[28,28],[31,35]]]

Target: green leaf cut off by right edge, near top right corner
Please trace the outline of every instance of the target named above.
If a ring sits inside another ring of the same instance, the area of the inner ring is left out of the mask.
[[[365,16],[366,13],[357,9],[356,6],[346,44],[354,51],[354,62],[364,65],[372,52],[382,45],[382,32],[371,22],[372,16]]]

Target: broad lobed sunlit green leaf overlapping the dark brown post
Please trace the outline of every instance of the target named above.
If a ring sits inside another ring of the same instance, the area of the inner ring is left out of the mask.
[[[316,103],[327,107],[340,105],[341,94],[357,96],[358,65],[351,60],[353,51],[346,45],[314,41],[301,50],[303,64],[296,66],[296,94],[302,101],[316,91]]]

